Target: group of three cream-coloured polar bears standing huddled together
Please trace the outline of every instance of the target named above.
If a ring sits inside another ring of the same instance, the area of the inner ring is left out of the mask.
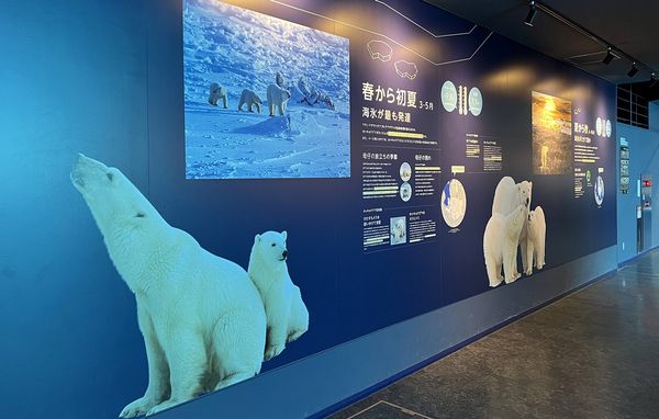
[[[483,253],[490,286],[516,281],[517,252],[522,252],[523,272],[533,273],[545,264],[545,213],[537,206],[529,211],[533,183],[515,183],[513,178],[501,179],[494,191],[492,216],[483,234]],[[501,274],[503,268],[503,275]]]

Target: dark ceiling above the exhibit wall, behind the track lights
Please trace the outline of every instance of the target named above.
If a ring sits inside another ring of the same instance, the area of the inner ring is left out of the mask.
[[[602,64],[605,47],[540,11],[533,27],[525,25],[528,1],[426,1],[614,83],[647,82],[650,78],[646,69],[628,78],[632,63],[625,58],[616,58],[608,66]],[[659,1],[546,0],[543,3],[652,68],[659,76]]]

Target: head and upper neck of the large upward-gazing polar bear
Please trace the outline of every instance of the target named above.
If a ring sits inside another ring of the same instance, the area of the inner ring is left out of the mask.
[[[153,223],[164,223],[156,208],[119,169],[78,154],[70,179],[107,238],[134,236]]]

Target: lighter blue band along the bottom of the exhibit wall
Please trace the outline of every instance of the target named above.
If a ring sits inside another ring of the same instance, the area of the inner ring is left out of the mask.
[[[158,418],[320,418],[617,269],[616,246],[269,371]]]

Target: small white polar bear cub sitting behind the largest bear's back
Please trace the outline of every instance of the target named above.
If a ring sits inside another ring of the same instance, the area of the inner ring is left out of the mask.
[[[292,342],[309,330],[309,312],[286,263],[286,231],[256,235],[247,268],[266,307],[266,361],[280,354],[286,343]]]

